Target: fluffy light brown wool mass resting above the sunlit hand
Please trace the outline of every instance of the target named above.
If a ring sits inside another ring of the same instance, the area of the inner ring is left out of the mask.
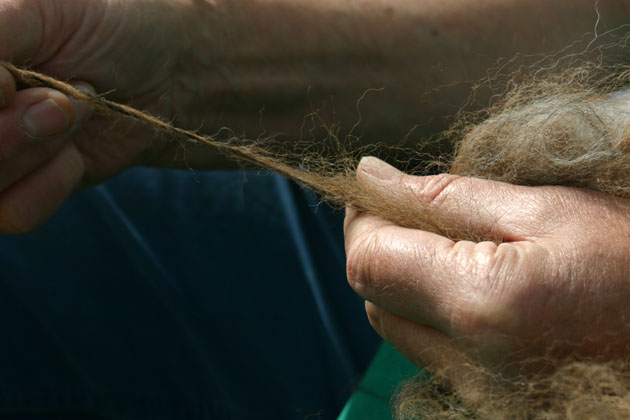
[[[469,129],[450,171],[630,196],[630,91],[553,88],[538,97],[513,92],[503,109]]]

